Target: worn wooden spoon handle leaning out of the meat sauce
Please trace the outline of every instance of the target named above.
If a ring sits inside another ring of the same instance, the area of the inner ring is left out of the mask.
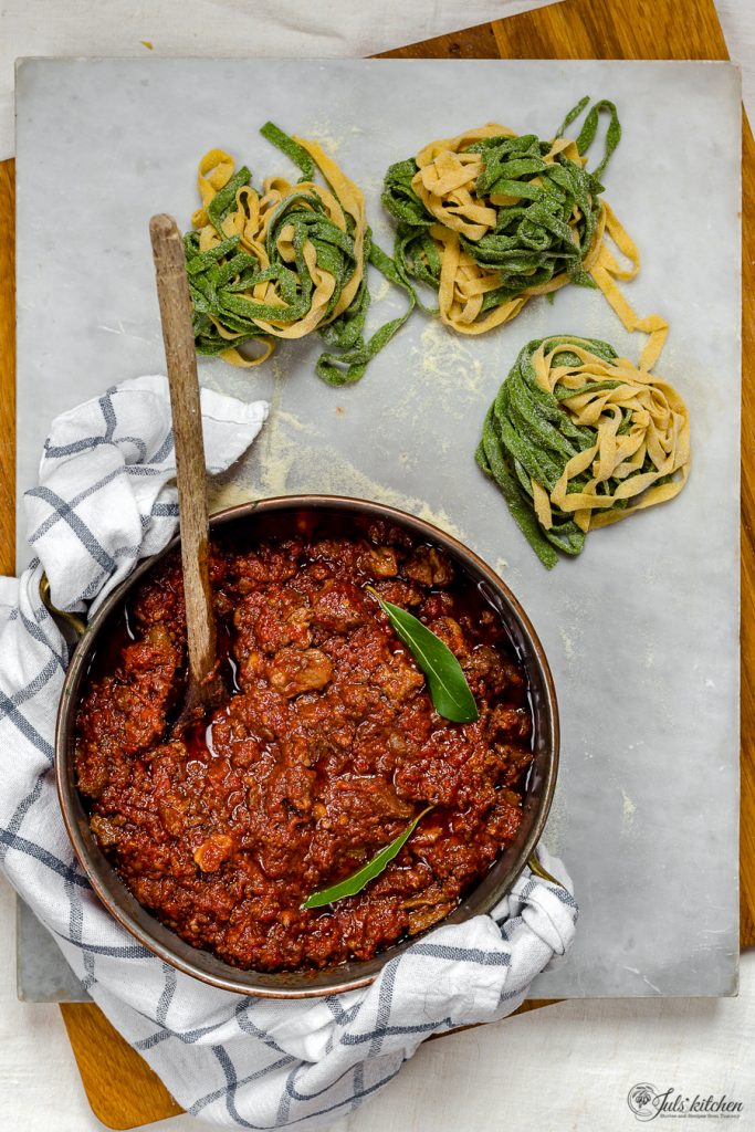
[[[196,687],[215,667],[215,617],[209,586],[207,480],[191,298],[181,233],[173,217],[153,216],[149,235],[173,413],[189,683]]]

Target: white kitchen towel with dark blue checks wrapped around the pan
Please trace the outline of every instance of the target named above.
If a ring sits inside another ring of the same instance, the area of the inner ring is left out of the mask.
[[[228,468],[267,414],[203,392],[211,472]],[[93,608],[177,524],[164,378],[144,377],[58,418],[40,486],[27,492],[37,555],[0,580],[0,863],[81,985],[190,1113],[244,1129],[316,1127],[396,1075],[431,1034],[503,1018],[563,955],[577,909],[529,871],[491,916],[439,927],[363,990],[307,1002],[205,986],[137,944],[98,904],[66,837],[53,781],[66,645],[40,601]],[[570,882],[540,851],[548,872]]]

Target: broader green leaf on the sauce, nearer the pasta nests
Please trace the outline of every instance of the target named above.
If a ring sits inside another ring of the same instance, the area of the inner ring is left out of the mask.
[[[367,588],[377,599],[396,635],[404,642],[427,677],[432,706],[453,723],[473,723],[479,719],[474,696],[453,652],[427,625],[413,614],[383,601],[371,585]]]

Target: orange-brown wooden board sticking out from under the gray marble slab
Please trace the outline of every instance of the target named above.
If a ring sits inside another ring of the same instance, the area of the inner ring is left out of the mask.
[[[483,24],[385,52],[403,59],[727,59],[712,0],[564,0],[560,5]],[[755,144],[744,123],[743,154],[743,484],[741,484],[741,915],[743,947],[755,946],[755,703],[747,680],[755,655]],[[0,163],[0,231],[14,230],[14,163]],[[0,571],[15,566],[14,242],[0,246]],[[526,1003],[523,1010],[546,1005]],[[61,1005],[95,1115],[130,1129],[181,1112],[157,1077],[96,1006]]]

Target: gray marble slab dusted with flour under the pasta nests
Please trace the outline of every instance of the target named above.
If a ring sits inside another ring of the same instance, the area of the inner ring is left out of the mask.
[[[478,338],[417,314],[362,383],[332,389],[318,342],[208,385],[273,412],[216,486],[250,496],[340,491],[435,518],[514,589],[546,646],[563,752],[546,841],[582,908],[568,962],[537,997],[729,995],[738,961],[738,72],[727,63],[31,60],[17,82],[18,490],[50,419],[163,367],[148,217],[187,225],[198,158],[221,146],[255,180],[288,162],[273,118],[321,142],[364,189],[384,247],[381,174],[426,142],[490,119],[549,136],[583,94],[612,98],[624,137],[607,199],[643,254],[627,295],[671,332],[657,367],[687,400],[683,495],[591,537],[551,573],[472,458],[484,411],[530,338],[572,332],[637,358],[597,292],[533,301]],[[403,307],[375,281],[372,319]],[[19,505],[19,567],[24,513]],[[61,993],[60,964],[22,920],[19,987]],[[42,950],[40,950],[42,949]],[[68,988],[70,993],[70,988]]]

